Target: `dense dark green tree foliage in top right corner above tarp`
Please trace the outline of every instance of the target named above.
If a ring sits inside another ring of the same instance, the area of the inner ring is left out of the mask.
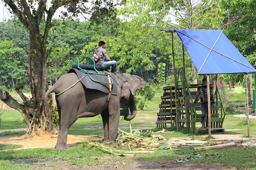
[[[221,0],[221,3],[237,21],[226,30],[226,35],[244,56],[250,56],[256,49],[256,0]]]

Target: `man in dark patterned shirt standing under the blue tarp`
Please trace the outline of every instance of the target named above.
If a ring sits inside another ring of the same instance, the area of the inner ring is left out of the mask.
[[[204,129],[204,122],[205,122],[205,115],[207,115],[206,120],[206,129],[208,129],[208,98],[207,98],[207,78],[203,78],[203,86],[198,87],[197,89],[197,95],[195,96],[195,101],[192,103],[192,107],[195,106],[195,104],[201,99],[201,123],[202,126],[199,128],[199,130]],[[213,89],[210,87],[210,110],[212,110],[212,107],[215,107],[214,98],[213,98]]]

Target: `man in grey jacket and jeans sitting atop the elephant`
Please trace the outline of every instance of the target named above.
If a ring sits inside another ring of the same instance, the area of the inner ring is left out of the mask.
[[[116,72],[117,62],[115,60],[111,61],[110,57],[108,57],[108,54],[105,48],[106,48],[106,43],[104,41],[100,41],[99,47],[94,52],[94,54],[97,54],[99,57],[99,60],[95,62],[95,65],[99,65],[105,68],[108,68],[111,66],[111,72]],[[104,57],[106,61],[104,60]]]

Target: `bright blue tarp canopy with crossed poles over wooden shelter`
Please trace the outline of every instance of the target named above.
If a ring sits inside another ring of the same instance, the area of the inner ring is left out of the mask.
[[[180,37],[198,74],[256,72],[221,30],[173,31]]]

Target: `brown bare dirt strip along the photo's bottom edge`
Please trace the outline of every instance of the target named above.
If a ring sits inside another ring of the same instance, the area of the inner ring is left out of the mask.
[[[126,164],[119,161],[105,159],[102,165],[87,165],[79,168],[70,164],[69,161],[46,161],[43,159],[10,159],[9,161],[16,164],[30,164],[30,168],[58,168],[62,170],[75,169],[75,170],[237,170],[234,167],[228,167],[221,163],[201,164],[201,163],[174,163],[172,160],[168,161],[149,161],[147,159],[137,159],[133,163]]]

